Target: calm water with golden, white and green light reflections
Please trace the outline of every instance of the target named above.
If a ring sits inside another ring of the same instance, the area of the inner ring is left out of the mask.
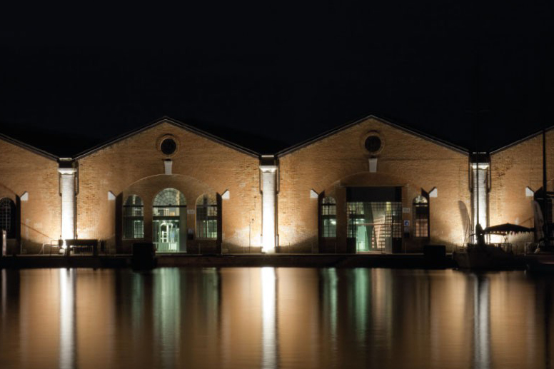
[[[551,368],[554,278],[2,270],[0,368]]]

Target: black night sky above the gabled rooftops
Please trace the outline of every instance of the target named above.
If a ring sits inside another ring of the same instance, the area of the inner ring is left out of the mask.
[[[482,3],[19,23],[0,31],[0,132],[70,156],[171,116],[273,152],[373,114],[489,150],[554,124],[554,17],[552,1]]]

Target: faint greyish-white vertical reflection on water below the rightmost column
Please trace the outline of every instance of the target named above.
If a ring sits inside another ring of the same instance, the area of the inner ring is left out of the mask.
[[[489,368],[489,285],[488,279],[478,277],[475,282],[475,298],[473,300],[473,363],[474,368]]]

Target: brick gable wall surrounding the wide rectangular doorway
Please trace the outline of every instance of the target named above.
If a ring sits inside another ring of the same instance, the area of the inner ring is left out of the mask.
[[[377,131],[383,141],[376,173],[369,173],[370,155],[363,146],[370,131]],[[284,154],[279,163],[278,239],[284,251],[290,247],[291,251],[311,252],[318,247],[318,200],[310,197],[310,190],[340,198],[346,186],[402,186],[403,207],[407,208],[421,188],[436,187],[438,197],[430,198],[430,243],[449,248],[463,243],[460,206],[470,209],[466,153],[368,118]],[[345,247],[346,223],[341,224],[339,218],[346,216],[346,204],[338,203],[337,212],[340,249]],[[403,213],[403,219],[412,221],[412,214]],[[403,248],[419,251],[422,243],[403,239]]]

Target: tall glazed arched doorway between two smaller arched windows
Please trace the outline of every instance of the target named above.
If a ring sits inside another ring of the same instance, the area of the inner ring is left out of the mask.
[[[164,188],[154,197],[152,241],[161,253],[186,252],[186,198],[175,188]]]

